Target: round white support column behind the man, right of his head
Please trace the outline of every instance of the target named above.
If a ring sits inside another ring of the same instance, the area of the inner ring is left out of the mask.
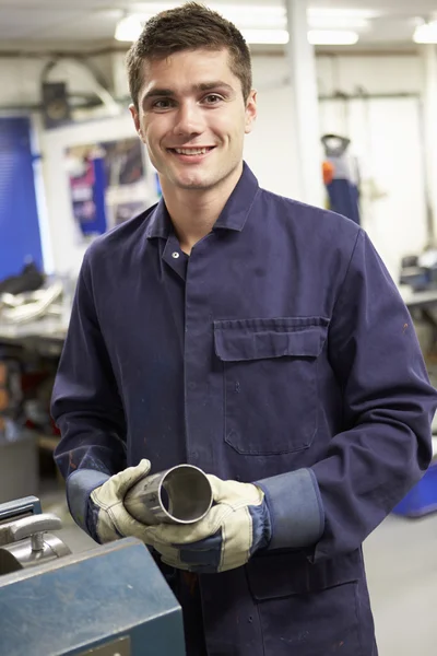
[[[290,68],[294,105],[294,133],[299,161],[300,190],[298,200],[322,207],[324,189],[322,181],[322,148],[320,144],[319,103],[317,90],[316,57],[308,43],[307,0],[285,0],[290,40],[286,56]],[[295,195],[296,196],[296,195]]]

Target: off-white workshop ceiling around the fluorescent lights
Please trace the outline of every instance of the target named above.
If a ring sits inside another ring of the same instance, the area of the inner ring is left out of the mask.
[[[178,0],[167,4],[180,4]],[[279,8],[281,0],[214,0],[205,2],[235,10],[235,7]],[[155,5],[157,3],[154,3]],[[309,0],[314,14],[317,10],[369,10],[375,14],[365,28],[357,30],[358,46],[395,48],[412,46],[412,33],[420,17],[437,15],[436,0]],[[123,0],[0,0],[0,49],[68,49],[86,50],[117,45],[114,32],[123,12],[144,13],[145,2]],[[125,47],[118,44],[118,47]],[[127,44],[126,44],[127,47]],[[355,46],[357,47],[357,46]]]

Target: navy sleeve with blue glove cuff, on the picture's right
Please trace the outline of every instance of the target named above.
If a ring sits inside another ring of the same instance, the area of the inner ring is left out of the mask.
[[[314,561],[359,548],[432,458],[437,394],[408,308],[364,231],[328,340],[344,430],[314,467],[260,481],[272,515],[270,548],[314,547]]]

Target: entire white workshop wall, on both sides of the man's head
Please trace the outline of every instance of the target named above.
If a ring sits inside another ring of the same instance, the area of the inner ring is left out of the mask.
[[[106,71],[110,62],[114,95],[117,97],[128,93],[123,60],[125,56],[117,54],[108,56],[105,66],[99,62]],[[2,105],[12,102],[37,102],[44,63],[40,60],[0,59],[0,110]],[[317,59],[319,90],[322,95],[338,91],[353,94],[358,90],[368,94],[418,94],[423,90],[421,67],[420,57],[414,55],[321,56]],[[49,79],[62,77],[68,79],[73,91],[93,91],[90,75],[74,62],[59,63]],[[245,157],[263,187],[293,197],[296,194],[298,157],[292,130],[293,103],[287,78],[285,57],[253,57],[259,114],[255,130],[246,140]],[[63,168],[64,149],[96,139],[132,136],[134,132],[127,108],[121,109],[119,117],[42,134],[55,268],[62,271],[76,269],[84,250],[72,220],[68,176]],[[398,124],[393,122],[393,118],[398,119]],[[385,194],[383,199],[365,198],[364,226],[393,277],[398,274],[402,255],[420,250],[426,241],[420,119],[414,98],[323,101],[320,104],[321,131],[341,131],[351,136],[364,164],[367,181]]]

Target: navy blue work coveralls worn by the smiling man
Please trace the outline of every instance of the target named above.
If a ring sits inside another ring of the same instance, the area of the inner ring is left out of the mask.
[[[260,189],[245,165],[190,257],[163,199],[88,248],[54,390],[56,460],[67,479],[141,458],[271,477],[274,548],[179,596],[189,656],[375,656],[362,543],[428,466],[436,405],[367,235]],[[317,511],[296,471],[324,515],[299,548]]]

